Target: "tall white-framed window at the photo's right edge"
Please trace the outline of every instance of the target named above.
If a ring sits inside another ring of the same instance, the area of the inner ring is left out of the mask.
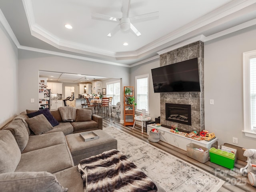
[[[244,133],[256,138],[256,50],[243,54]]]

